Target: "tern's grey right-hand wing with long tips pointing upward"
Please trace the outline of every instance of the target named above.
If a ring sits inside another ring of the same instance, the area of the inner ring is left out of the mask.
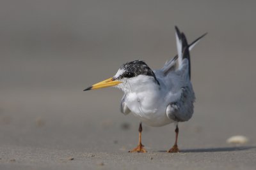
[[[195,94],[191,85],[191,72],[190,72],[190,55],[189,50],[195,46],[195,44],[205,36],[202,35],[197,38],[193,43],[188,45],[188,41],[183,32],[180,32],[178,27],[175,27],[176,42],[177,42],[177,71],[175,71],[175,82],[173,81],[173,87],[170,89],[170,103],[166,108],[166,115],[168,118],[176,122],[184,122],[189,120],[193,115],[195,102]],[[169,69],[170,70],[170,69]],[[173,92],[172,92],[173,90]]]

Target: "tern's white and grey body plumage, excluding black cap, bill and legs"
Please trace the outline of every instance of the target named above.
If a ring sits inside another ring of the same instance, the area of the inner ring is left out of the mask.
[[[139,75],[124,78],[124,83],[117,86],[125,93],[121,101],[122,113],[126,115],[131,111],[151,126],[184,122],[192,117],[195,94],[189,78],[189,59],[182,55],[184,48],[191,50],[204,35],[191,45],[182,46],[179,34],[175,34],[178,56],[166,62],[163,68],[154,70],[159,85],[152,76]],[[123,71],[119,70],[114,78],[120,73]]]

